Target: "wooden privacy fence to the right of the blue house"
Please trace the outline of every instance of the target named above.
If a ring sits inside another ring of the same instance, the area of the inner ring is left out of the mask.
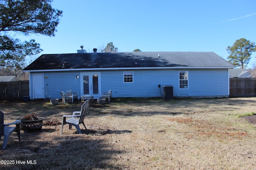
[[[230,96],[256,96],[256,78],[230,78]]]

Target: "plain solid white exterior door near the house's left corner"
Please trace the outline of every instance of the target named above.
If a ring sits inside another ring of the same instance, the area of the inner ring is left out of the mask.
[[[43,74],[33,74],[34,82],[34,98],[42,99],[44,98],[44,75]]]

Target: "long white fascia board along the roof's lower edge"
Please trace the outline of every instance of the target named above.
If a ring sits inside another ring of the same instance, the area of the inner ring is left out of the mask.
[[[49,72],[49,71],[90,71],[90,70],[143,70],[143,69],[223,69],[235,67],[121,67],[121,68],[73,68],[51,70],[23,70],[23,72]]]

